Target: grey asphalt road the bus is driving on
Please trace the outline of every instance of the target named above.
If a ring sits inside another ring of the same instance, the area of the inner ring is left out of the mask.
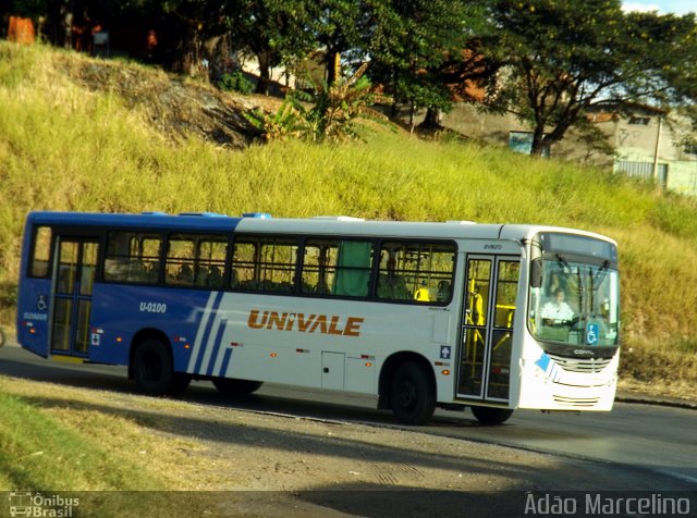
[[[0,348],[0,374],[73,386],[136,392],[123,367],[50,361],[16,346]],[[398,425],[376,399],[352,394],[264,385],[229,402],[207,382],[193,383],[185,398],[196,404],[326,420]],[[616,403],[611,412],[541,414],[517,410],[503,425],[481,427],[468,412],[438,410],[425,433],[487,442],[554,455],[617,464],[656,474],[657,491],[697,491],[697,410]]]

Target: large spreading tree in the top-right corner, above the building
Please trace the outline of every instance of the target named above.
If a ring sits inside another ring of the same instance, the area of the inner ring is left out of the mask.
[[[493,0],[481,51],[505,73],[491,110],[533,130],[533,155],[594,106],[697,99],[694,15],[624,14],[620,0]]]

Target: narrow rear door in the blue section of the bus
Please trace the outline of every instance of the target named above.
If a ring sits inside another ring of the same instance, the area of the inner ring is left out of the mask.
[[[98,243],[59,236],[53,266],[51,354],[86,357]]]

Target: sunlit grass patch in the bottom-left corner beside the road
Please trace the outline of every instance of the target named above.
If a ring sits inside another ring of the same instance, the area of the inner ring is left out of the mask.
[[[198,516],[206,509],[205,493],[176,501],[164,493],[206,490],[209,483],[199,456],[187,459],[187,466],[200,474],[179,469],[198,446],[157,432],[167,428],[157,409],[176,411],[176,402],[143,398],[138,410],[126,411],[105,407],[99,394],[56,388],[0,377],[0,492],[32,491],[46,498],[60,492],[77,498],[72,515],[49,515],[46,505],[42,516]]]

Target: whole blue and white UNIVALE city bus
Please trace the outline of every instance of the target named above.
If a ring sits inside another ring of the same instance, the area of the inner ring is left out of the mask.
[[[270,382],[493,424],[611,409],[619,294],[616,244],[570,229],[32,212],[17,341],[127,366],[154,395]]]

